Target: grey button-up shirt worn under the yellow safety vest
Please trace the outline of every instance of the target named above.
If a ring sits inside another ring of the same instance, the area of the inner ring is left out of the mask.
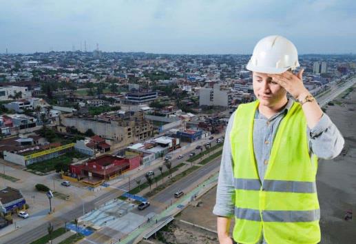
[[[255,112],[253,124],[253,148],[258,166],[258,175],[260,176],[261,182],[264,179],[264,173],[266,172],[269,156],[271,154],[273,139],[278,126],[280,125],[280,121],[282,121],[292,105],[293,100],[289,99],[286,106],[269,119],[263,114],[260,114],[258,110]],[[213,214],[226,217],[232,217],[234,215],[235,207],[235,204],[233,203],[235,197],[235,189],[233,186],[233,159],[231,154],[231,143],[229,140],[234,117],[235,112],[229,119],[229,124],[227,125],[225,133],[218,189],[216,193],[216,205],[213,208]],[[306,134],[309,141],[309,154],[315,154],[320,159],[333,159],[339,155],[342,148],[344,148],[344,138],[342,137],[342,134],[337,130],[335,124],[326,114],[323,114],[322,118],[314,128],[307,128]],[[262,240],[260,243],[261,242]]]

